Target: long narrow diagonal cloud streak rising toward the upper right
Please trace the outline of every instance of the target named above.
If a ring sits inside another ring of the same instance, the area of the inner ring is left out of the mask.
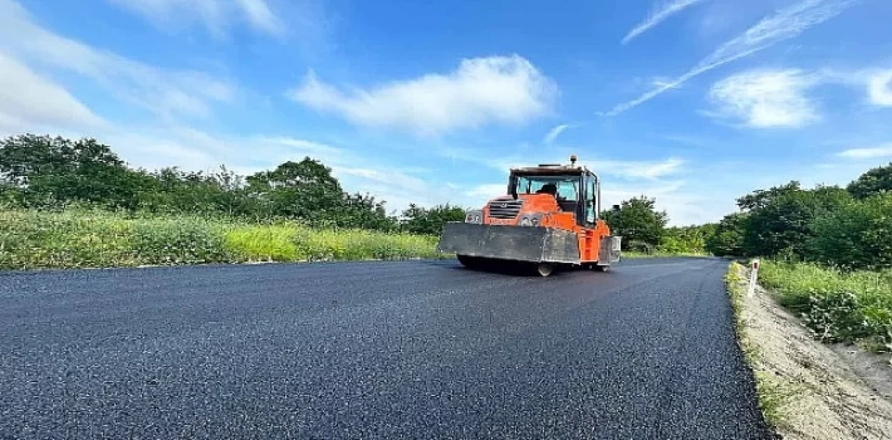
[[[692,79],[706,71],[711,71],[728,62],[738,60],[750,54],[755,54],[765,48],[774,46],[782,41],[797,37],[805,30],[828,21],[845,11],[849,6],[858,3],[859,0],[804,0],[792,4],[775,12],[771,17],[764,18],[746,32],[740,34],[722,46],[719,46],[712,54],[701,60],[690,71],[677,79],[656,87],[653,90],[640,95],[632,101],[618,104],[609,112],[602,113],[605,116],[615,116],[626,112],[633,107],[646,103],[649,100],[663,94],[667,90],[681,86],[685,81]]]

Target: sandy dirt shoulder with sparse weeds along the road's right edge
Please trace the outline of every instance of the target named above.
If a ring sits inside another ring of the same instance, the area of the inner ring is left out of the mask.
[[[747,297],[748,270],[735,265],[741,345],[759,382],[766,419],[782,438],[892,439],[888,355],[824,345],[761,286]],[[733,277],[733,276],[732,276]]]

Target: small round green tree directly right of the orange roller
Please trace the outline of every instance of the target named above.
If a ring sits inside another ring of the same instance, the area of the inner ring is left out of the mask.
[[[623,237],[627,250],[652,250],[663,239],[669,216],[657,211],[656,199],[645,196],[632,197],[620,204],[619,211],[601,212],[615,236]]]

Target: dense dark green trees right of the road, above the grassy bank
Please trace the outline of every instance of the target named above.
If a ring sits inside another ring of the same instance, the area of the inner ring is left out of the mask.
[[[797,180],[737,199],[706,240],[716,255],[820,262],[844,270],[892,267],[892,163],[846,187]]]

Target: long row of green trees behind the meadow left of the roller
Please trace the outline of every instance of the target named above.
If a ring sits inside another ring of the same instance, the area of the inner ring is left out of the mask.
[[[133,213],[195,214],[245,220],[301,220],[314,227],[439,234],[463,220],[448,203],[411,204],[401,216],[384,201],[344,190],[332,170],[305,157],[241,176],[216,172],[131,169],[93,138],[24,134],[0,141],[0,203],[47,208],[71,203]]]

